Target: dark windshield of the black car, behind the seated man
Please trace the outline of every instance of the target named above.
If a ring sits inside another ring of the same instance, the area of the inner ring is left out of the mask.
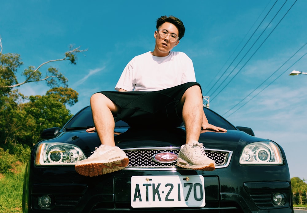
[[[213,112],[212,110],[209,110],[207,108],[204,108],[205,115],[208,119],[208,122],[210,124],[213,124],[215,126],[220,126],[222,128],[225,128],[227,130],[235,130],[235,127],[232,126],[229,122],[227,122],[224,118]],[[92,117],[92,110],[91,106],[87,106],[83,110],[81,110],[79,113],[77,113],[65,126],[66,128],[78,128],[78,127],[85,127],[89,128],[94,125],[93,117]],[[118,121],[115,123],[115,127],[120,126],[128,126],[126,122]]]

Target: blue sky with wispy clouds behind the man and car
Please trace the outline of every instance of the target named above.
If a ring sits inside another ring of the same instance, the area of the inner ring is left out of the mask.
[[[78,55],[77,65],[60,62],[40,69],[58,68],[79,92],[73,114],[93,93],[114,90],[134,56],[153,51],[158,17],[179,17],[186,33],[173,50],[193,60],[210,108],[282,145],[290,176],[307,178],[307,75],[288,76],[307,71],[307,1],[12,0],[1,7],[2,53],[21,55],[19,81],[25,68],[63,58],[70,45],[88,49]],[[49,88],[30,83],[19,89],[44,95]]]

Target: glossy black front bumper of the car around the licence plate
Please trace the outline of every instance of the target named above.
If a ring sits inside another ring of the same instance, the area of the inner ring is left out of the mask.
[[[103,176],[78,175],[74,167],[35,167],[30,163],[25,178],[24,212],[107,212],[107,211],[201,211],[206,212],[293,212],[288,167],[240,166],[212,172],[194,170],[139,171],[121,170]],[[238,168],[240,167],[240,168]],[[31,172],[30,172],[31,171]],[[259,172],[261,171],[261,172]],[[204,207],[132,208],[131,177],[151,175],[204,176]],[[39,178],[38,178],[39,177]],[[264,181],[265,180],[265,181]],[[285,195],[282,206],[272,203],[272,196]],[[37,204],[40,196],[52,199],[49,208]]]

